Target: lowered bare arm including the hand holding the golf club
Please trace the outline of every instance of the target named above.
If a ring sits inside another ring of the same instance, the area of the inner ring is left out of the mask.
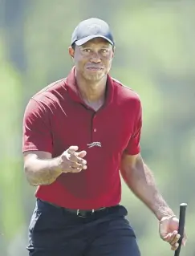
[[[159,234],[165,242],[169,242],[172,250],[177,250],[180,235],[177,234],[179,221],[174,215],[172,209],[165,202],[160,192],[156,188],[154,177],[151,170],[145,165],[140,154],[135,156],[123,155],[120,173],[129,189],[138,197],[156,218],[160,221]],[[185,245],[186,234],[182,240]]]

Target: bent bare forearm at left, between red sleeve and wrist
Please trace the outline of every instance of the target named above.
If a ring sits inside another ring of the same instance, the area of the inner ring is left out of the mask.
[[[24,166],[30,185],[49,185],[61,174],[56,159],[40,160],[32,158]]]

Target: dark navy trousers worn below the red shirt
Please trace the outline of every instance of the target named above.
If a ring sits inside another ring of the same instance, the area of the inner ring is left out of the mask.
[[[140,256],[122,205],[78,217],[36,201],[29,226],[30,256]]]

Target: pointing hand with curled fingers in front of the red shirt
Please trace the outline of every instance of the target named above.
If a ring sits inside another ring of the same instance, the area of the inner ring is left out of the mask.
[[[59,169],[62,173],[79,173],[87,169],[87,161],[83,159],[87,152],[77,152],[78,149],[77,146],[71,146],[58,157]]]

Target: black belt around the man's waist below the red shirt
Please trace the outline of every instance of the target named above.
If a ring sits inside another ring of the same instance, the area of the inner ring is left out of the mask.
[[[41,199],[39,199],[40,201],[43,201]],[[64,211],[67,211],[68,213],[73,213],[75,214],[76,216],[78,217],[91,217],[92,215],[94,215],[95,213],[97,212],[103,212],[104,210],[107,210],[111,207],[101,207],[99,209],[69,209],[69,208],[65,208],[65,207],[61,207],[59,205],[55,205],[49,201],[43,201],[43,203],[46,203],[48,205],[52,205],[54,206],[55,208],[58,208],[58,209],[63,209]]]

